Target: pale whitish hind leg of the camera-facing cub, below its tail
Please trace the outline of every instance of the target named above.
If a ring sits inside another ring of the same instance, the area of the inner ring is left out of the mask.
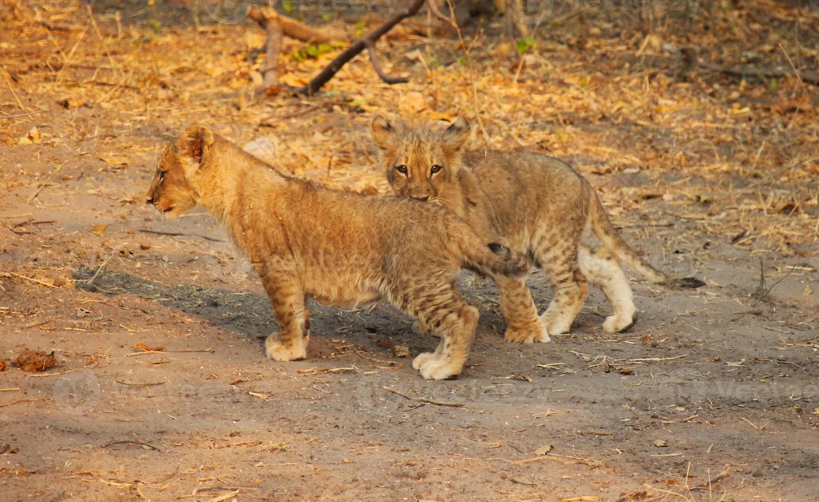
[[[612,306],[613,314],[606,317],[603,331],[622,333],[630,330],[637,322],[637,308],[631,286],[617,258],[609,249],[591,250],[580,244],[577,246],[577,263],[586,279],[603,290]]]

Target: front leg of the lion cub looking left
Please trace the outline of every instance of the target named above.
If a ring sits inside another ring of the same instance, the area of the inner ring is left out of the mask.
[[[261,276],[278,322],[278,331],[265,340],[267,357],[276,361],[306,358],[310,341],[310,315],[305,306],[304,290],[292,277],[273,273]]]

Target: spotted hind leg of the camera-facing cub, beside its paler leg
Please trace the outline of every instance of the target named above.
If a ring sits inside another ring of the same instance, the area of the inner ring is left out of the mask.
[[[554,290],[549,308],[541,314],[541,322],[550,335],[568,333],[589,292],[586,277],[577,267],[577,244],[564,241],[535,251],[535,258]]]

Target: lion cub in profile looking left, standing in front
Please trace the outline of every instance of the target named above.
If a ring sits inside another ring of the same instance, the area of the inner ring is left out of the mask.
[[[170,217],[200,205],[227,227],[273,304],[279,331],[265,348],[278,361],[305,358],[308,295],[333,305],[386,299],[441,335],[413,367],[432,380],[455,377],[478,318],[455,288],[459,269],[500,277],[528,268],[526,257],[487,247],[443,208],[283,176],[201,126],[165,148],[147,197]]]

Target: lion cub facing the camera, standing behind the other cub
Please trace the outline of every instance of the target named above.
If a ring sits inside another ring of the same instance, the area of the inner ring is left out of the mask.
[[[586,301],[586,281],[600,286],[613,308],[604,331],[627,331],[637,310],[618,259],[654,283],[703,285],[694,278],[674,279],[643,261],[613,228],[591,185],[564,162],[537,153],[464,152],[469,132],[464,118],[443,131],[399,131],[381,116],[372,124],[396,194],[441,204],[464,217],[484,241],[527,254],[549,277],[554,298],[540,318],[524,279],[495,280],[506,340],[545,342],[567,333]],[[586,244],[592,233],[604,247]]]

